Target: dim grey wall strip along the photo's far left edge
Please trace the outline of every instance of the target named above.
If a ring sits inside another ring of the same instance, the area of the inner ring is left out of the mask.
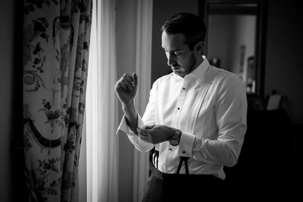
[[[0,3],[0,194],[2,201],[12,200],[12,155],[10,153],[10,142],[12,141],[12,109],[13,109],[13,29],[14,29],[14,2],[1,1]],[[11,19],[11,20],[8,20]]]

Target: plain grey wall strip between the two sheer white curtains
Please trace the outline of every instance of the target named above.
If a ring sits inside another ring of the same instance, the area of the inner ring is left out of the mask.
[[[117,80],[125,72],[132,74],[136,68],[136,22],[137,1],[117,0],[116,9],[116,54]],[[114,86],[113,89],[114,90]],[[118,102],[118,120],[123,117],[122,105]],[[134,145],[124,132],[119,131],[119,201],[132,201]]]

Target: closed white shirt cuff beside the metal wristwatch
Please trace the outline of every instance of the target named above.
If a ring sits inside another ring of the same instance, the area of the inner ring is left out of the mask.
[[[191,151],[194,146],[195,138],[195,135],[182,132],[177,153],[178,157],[192,157]]]

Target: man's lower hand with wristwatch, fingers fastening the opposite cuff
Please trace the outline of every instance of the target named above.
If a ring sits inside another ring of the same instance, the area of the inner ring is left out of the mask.
[[[138,136],[141,140],[152,144],[158,144],[169,140],[174,136],[176,129],[164,125],[146,126],[145,129],[137,127]]]

